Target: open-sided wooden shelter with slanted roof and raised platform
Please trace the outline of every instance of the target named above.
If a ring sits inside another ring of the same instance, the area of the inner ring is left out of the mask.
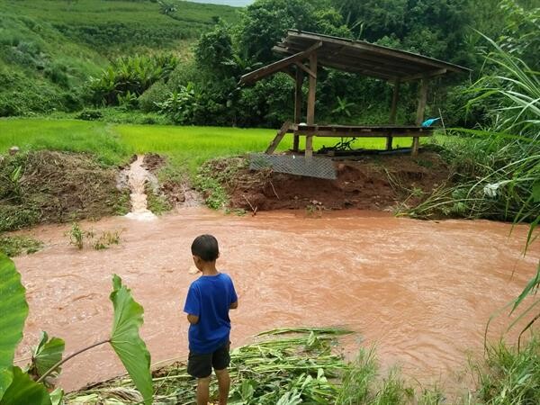
[[[451,63],[417,55],[404,50],[374,45],[363,40],[289,30],[287,37],[274,47],[275,52],[287,55],[266,67],[244,75],[240,84],[257,82],[266,76],[284,72],[295,81],[294,123],[285,122],[275,139],[266,149],[273,153],[286,133],[294,135],[293,150],[298,151],[300,137],[306,137],[305,156],[313,154],[313,137],[384,137],[386,148],[392,149],[394,137],[412,137],[412,153],[418,153],[419,137],[430,136],[433,130],[421,127],[428,97],[429,79],[447,73],[464,73],[469,69]],[[307,63],[306,63],[307,62]],[[315,97],[318,68],[333,67],[351,73],[376,77],[393,85],[390,119],[387,125],[317,125],[315,123]],[[302,85],[309,78],[306,123],[301,124]],[[419,80],[419,103],[416,125],[396,125],[396,112],[401,83]]]

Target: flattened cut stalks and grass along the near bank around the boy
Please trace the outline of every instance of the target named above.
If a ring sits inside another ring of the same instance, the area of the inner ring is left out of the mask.
[[[540,341],[533,338],[520,353],[500,343],[473,366],[476,387],[446,397],[437,386],[406,381],[399,368],[383,372],[374,348],[361,348],[347,364],[332,350],[337,338],[350,333],[331,328],[284,328],[258,335],[253,344],[231,351],[229,374],[232,405],[527,405],[540,403]],[[185,364],[153,372],[154,403],[194,404],[196,381]],[[211,383],[217,401],[217,383]],[[139,403],[129,377],[95,384],[65,398],[67,405]]]

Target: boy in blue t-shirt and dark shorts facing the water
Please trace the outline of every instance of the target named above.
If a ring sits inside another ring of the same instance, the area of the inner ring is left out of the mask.
[[[187,372],[197,378],[197,405],[207,405],[211,369],[220,387],[220,405],[229,398],[229,310],[238,308],[238,297],[229,275],[218,272],[218,241],[201,235],[192,244],[193,262],[202,273],[189,287],[184,312],[189,327]]]

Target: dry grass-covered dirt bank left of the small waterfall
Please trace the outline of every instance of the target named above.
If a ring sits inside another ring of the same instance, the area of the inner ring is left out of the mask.
[[[0,230],[98,219],[129,208],[115,167],[85,154],[35,151],[0,161]]]

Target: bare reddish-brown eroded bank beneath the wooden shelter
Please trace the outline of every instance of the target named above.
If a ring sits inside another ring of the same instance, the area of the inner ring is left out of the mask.
[[[238,166],[238,157],[233,165]],[[214,173],[227,171],[229,159],[210,163]],[[280,209],[390,210],[398,203],[416,205],[450,172],[435,152],[418,157],[372,155],[357,160],[335,161],[338,178],[326,180],[271,171],[243,168],[225,180],[220,178],[230,197],[230,208],[247,211]]]

